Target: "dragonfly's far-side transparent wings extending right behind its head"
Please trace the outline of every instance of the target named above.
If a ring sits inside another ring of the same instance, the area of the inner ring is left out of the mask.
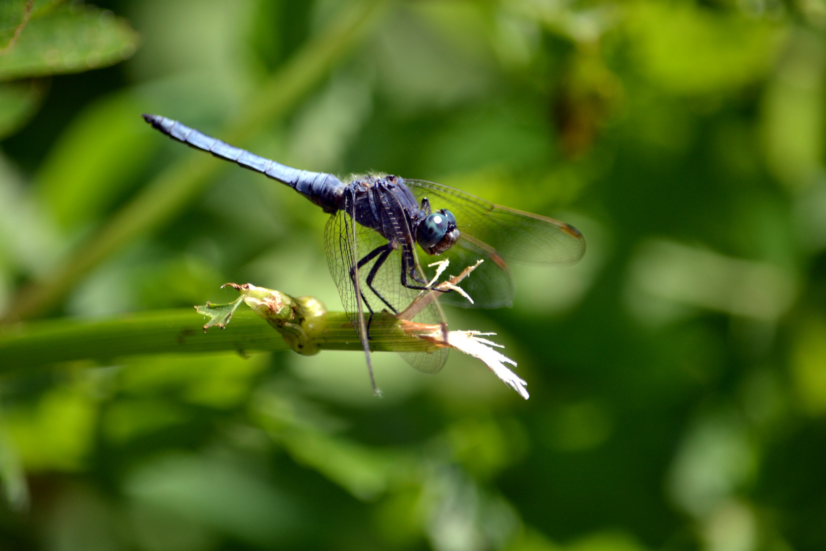
[[[573,264],[585,254],[585,240],[577,228],[525,211],[487,202],[480,197],[440,183],[405,180],[416,200],[427,197],[434,211],[446,208],[456,216],[461,237],[439,259],[450,260],[451,273],[458,273],[477,259],[484,259],[461,287],[474,304],[455,292],[440,300],[455,306],[497,308],[510,306],[514,286],[508,264]],[[423,258],[425,264],[430,264]]]

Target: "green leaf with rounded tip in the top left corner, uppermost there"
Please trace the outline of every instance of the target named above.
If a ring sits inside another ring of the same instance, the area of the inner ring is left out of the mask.
[[[17,45],[0,57],[0,80],[79,73],[135,53],[138,34],[97,7],[61,7],[30,21]]]

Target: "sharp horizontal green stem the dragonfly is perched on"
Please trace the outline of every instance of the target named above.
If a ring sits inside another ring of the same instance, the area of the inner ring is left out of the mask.
[[[361,350],[344,312],[327,312],[307,338],[320,350]],[[109,320],[47,320],[6,325],[0,331],[0,373],[45,363],[93,359],[107,362],[135,354],[287,350],[282,335],[253,311],[236,311],[225,329],[202,329],[204,316],[190,308],[148,311]],[[392,316],[371,325],[374,351],[426,350],[429,344],[405,335]]]

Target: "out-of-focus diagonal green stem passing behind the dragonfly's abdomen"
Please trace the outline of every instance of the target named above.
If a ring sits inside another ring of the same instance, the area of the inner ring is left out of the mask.
[[[295,106],[324,78],[330,68],[363,37],[387,0],[357,2],[320,32],[278,70],[252,99],[245,112],[221,132],[226,140],[243,145],[263,126]],[[135,113],[137,117],[139,113]],[[209,181],[223,163],[198,152],[160,173],[87,243],[78,247],[50,277],[24,287],[2,318],[26,320],[55,306],[86,273],[140,235],[169,221]]]

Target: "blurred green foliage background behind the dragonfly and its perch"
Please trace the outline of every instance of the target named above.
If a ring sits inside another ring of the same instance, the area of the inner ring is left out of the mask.
[[[824,0],[59,4],[0,7],[7,319],[227,281],[340,308],[323,213],[141,112],[556,216],[588,250],[449,311],[529,401],[458,354],[374,354],[381,400],[356,352],[5,365],[2,549],[826,549]]]

